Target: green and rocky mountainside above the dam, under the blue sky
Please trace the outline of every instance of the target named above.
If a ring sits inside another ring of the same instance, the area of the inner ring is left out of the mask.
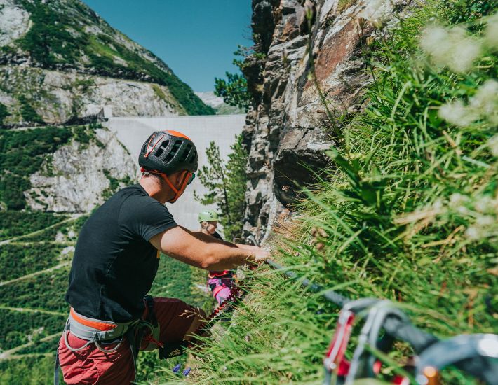
[[[79,0],[0,0],[0,124],[214,110]]]

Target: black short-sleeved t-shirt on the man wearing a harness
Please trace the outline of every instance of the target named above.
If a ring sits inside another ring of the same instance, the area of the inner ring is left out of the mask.
[[[67,302],[77,313],[102,321],[139,318],[159,266],[159,251],[149,240],[176,225],[140,184],[119,190],[81,229]]]

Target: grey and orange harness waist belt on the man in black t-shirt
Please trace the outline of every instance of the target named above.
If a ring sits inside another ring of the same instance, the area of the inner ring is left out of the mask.
[[[69,318],[67,319],[67,329],[71,330],[71,333],[76,337],[86,339],[87,341],[110,341],[123,337],[128,329],[133,328],[138,321],[140,320],[124,323],[100,321],[82,316],[71,308]]]

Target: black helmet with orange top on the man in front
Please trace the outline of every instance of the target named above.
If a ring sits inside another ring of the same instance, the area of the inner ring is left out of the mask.
[[[138,164],[144,169],[173,174],[197,171],[197,150],[189,137],[177,131],[156,131],[145,141]]]

